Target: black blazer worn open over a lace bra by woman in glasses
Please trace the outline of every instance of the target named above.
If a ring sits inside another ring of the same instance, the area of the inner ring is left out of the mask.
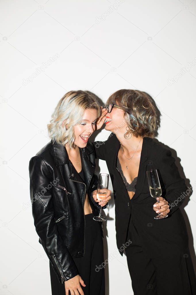
[[[130,217],[143,241],[143,251],[149,258],[164,257],[175,253],[185,253],[188,247],[188,235],[184,218],[178,209],[187,190],[184,179],[180,177],[175,158],[171,151],[150,137],[143,138],[140,165],[135,194],[130,200],[123,179],[116,168],[120,142],[112,132],[108,140],[93,142],[96,158],[105,160],[113,185],[115,200],[116,241],[123,256],[123,244],[126,242]],[[164,219],[154,219],[156,202],[150,196],[146,171],[158,169],[162,196],[170,203],[171,212]]]

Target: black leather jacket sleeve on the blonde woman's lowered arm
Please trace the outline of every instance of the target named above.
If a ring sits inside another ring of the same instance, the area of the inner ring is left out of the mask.
[[[34,156],[29,161],[29,177],[35,229],[53,269],[56,270],[59,282],[64,283],[79,273],[57,230],[54,219],[52,176],[41,157]]]

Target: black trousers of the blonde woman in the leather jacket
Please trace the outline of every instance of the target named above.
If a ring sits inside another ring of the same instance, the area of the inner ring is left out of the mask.
[[[81,278],[86,284],[81,286],[85,295],[105,295],[103,238],[99,221],[93,220],[93,213],[85,215],[85,253],[83,257],[73,258]],[[65,284],[59,283],[50,262],[52,295],[65,295]],[[69,295],[70,295],[69,291]]]

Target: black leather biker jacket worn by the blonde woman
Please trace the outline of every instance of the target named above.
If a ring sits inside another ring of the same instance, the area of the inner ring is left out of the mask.
[[[35,229],[60,283],[79,274],[72,257],[82,257],[85,252],[86,193],[95,215],[100,208],[92,197],[98,185],[92,143],[79,150],[86,184],[81,182],[65,146],[52,140],[29,161]],[[103,222],[99,224],[103,237]]]

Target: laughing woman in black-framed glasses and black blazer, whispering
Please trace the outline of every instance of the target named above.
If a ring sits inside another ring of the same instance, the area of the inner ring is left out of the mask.
[[[170,150],[155,139],[157,113],[152,99],[138,90],[116,91],[98,122],[104,118],[105,130],[111,134],[93,146],[110,173],[117,246],[122,256],[125,250],[134,294],[196,294],[187,229],[179,209],[188,190]],[[150,196],[146,176],[150,169],[159,171],[159,204]],[[93,198],[98,202],[96,195]],[[156,220],[155,212],[168,217]]]

